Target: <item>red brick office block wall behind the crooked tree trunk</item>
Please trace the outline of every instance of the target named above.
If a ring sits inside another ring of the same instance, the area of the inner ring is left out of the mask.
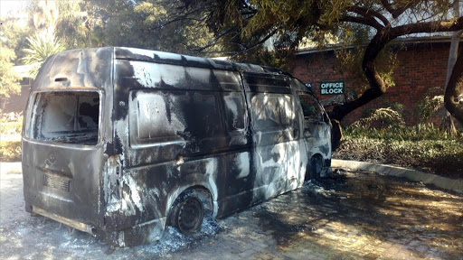
[[[345,117],[343,125],[349,125],[358,120],[364,115],[366,109],[390,107],[386,104],[387,102],[398,102],[404,105],[405,120],[408,125],[414,125],[416,124],[414,118],[416,106],[425,96],[426,91],[439,87],[443,95],[449,43],[410,44],[406,46],[406,49],[397,51],[397,54],[399,65],[393,73],[395,87],[389,88],[381,98],[376,98],[366,106],[354,110]],[[320,81],[344,80],[345,91],[352,91],[354,87],[354,79],[340,72],[334,51],[298,55],[293,66],[293,75],[298,79],[305,83],[316,83],[314,91],[320,99],[332,97],[320,96],[318,84]],[[357,95],[361,93],[357,92]],[[438,118],[439,116],[433,121]]]

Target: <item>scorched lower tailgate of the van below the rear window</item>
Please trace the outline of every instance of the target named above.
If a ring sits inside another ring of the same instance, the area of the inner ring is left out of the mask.
[[[64,218],[101,225],[103,149],[34,142],[24,138],[24,199]]]

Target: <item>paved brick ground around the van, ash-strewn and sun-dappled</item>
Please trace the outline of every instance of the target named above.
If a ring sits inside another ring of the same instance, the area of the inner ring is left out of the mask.
[[[194,237],[168,228],[159,243],[115,249],[26,213],[11,165],[0,164],[0,259],[463,259],[461,194],[376,173],[340,172],[207,219]]]

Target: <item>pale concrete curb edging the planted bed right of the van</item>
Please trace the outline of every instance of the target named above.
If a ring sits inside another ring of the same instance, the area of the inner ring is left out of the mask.
[[[361,170],[367,172],[378,172],[386,175],[406,178],[411,181],[421,181],[425,184],[433,184],[441,189],[463,193],[463,180],[450,179],[446,177],[437,176],[435,174],[419,172],[402,167],[336,159],[331,160],[331,167],[345,168],[354,171]]]

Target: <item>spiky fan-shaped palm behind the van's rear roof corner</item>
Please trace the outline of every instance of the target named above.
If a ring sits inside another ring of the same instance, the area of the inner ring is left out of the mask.
[[[33,37],[27,37],[27,45],[29,48],[23,49],[26,55],[22,60],[25,65],[33,65],[30,70],[33,79],[48,57],[66,50],[64,42],[58,40],[51,32],[35,33]]]

